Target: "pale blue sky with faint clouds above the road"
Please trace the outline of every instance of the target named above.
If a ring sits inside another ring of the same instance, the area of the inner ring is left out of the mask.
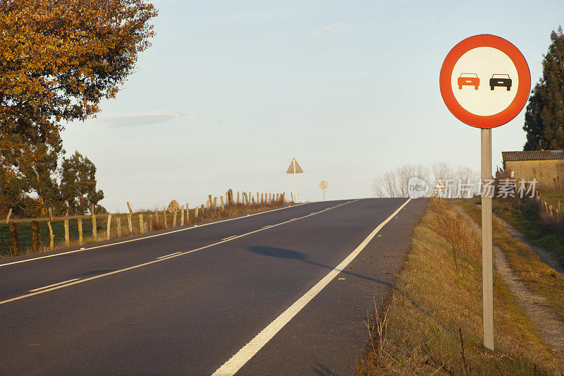
[[[97,166],[110,211],[191,207],[208,194],[286,192],[300,201],[372,197],[403,164],[479,171],[480,132],[439,92],[448,51],[478,34],[509,40],[532,85],[564,1],[154,0],[157,35],[96,119],[63,145]],[[522,150],[525,109],[492,131],[493,164]]]

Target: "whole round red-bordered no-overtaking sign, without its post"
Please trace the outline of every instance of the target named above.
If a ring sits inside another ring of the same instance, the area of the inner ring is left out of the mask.
[[[476,128],[495,128],[515,119],[527,103],[531,73],[513,44],[495,35],[474,35],[450,49],[439,87],[458,120]]]

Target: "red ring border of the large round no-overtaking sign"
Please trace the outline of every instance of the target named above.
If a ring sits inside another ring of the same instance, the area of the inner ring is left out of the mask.
[[[519,76],[517,95],[513,98],[513,102],[511,102],[506,109],[498,112],[498,114],[480,116],[465,110],[456,100],[453,87],[450,85],[454,66],[458,59],[460,59],[460,56],[477,47],[492,47],[502,51],[509,56],[509,59],[513,61],[517,69],[517,75]],[[531,90],[531,73],[525,57],[511,42],[501,37],[496,37],[496,35],[474,35],[473,37],[462,40],[462,42],[456,44],[455,47],[448,52],[443,66],[441,67],[439,85],[446,107],[458,120],[477,128],[495,128],[503,126],[503,124],[513,120],[515,116],[521,112],[523,107],[525,107],[527,99],[529,98],[529,91]]]

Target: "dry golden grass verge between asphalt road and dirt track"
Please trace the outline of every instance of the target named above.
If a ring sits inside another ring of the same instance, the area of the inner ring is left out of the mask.
[[[479,239],[444,200],[430,200],[386,315],[372,327],[383,317],[387,330],[372,330],[378,345],[368,346],[357,375],[558,375],[563,369],[496,276],[496,351],[482,347]]]

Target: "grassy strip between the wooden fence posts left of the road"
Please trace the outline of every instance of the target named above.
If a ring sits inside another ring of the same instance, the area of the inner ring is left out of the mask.
[[[185,225],[198,224],[204,222],[214,221],[216,219],[223,219],[228,217],[235,217],[240,214],[247,214],[252,212],[258,212],[260,210],[267,210],[275,207],[283,207],[293,205],[293,202],[282,202],[275,201],[262,204],[253,205],[243,205],[243,204],[233,204],[225,207],[221,210],[220,207],[216,209],[198,210],[198,217],[195,219],[195,209],[190,209],[189,217],[190,222]],[[129,232],[128,229],[128,214],[112,214],[112,224],[111,224],[111,239],[127,237],[135,234],[140,234],[140,224],[139,224],[139,212],[133,214],[133,232]],[[153,215],[152,229],[153,231],[159,231],[162,229],[170,229],[173,225],[173,214],[166,211],[166,224],[164,221],[163,211],[158,212],[158,216],[154,211],[147,210],[142,212],[143,221],[145,228],[147,228],[147,222],[149,220],[149,214]],[[98,234],[97,241],[106,241],[106,229],[107,229],[107,214],[98,214],[96,216],[96,228]],[[118,236],[118,230],[116,227],[116,218],[121,218],[121,236]],[[67,246],[64,239],[63,222],[51,222],[53,232],[55,235],[54,243],[55,250],[63,250],[65,248],[75,248],[78,246],[78,224],[76,220],[70,220],[69,226],[69,237],[71,244]],[[176,214],[176,226],[180,226],[180,212]],[[49,251],[49,229],[47,227],[47,220],[39,222],[39,252]],[[96,243],[94,236],[92,236],[92,218],[90,216],[84,216],[82,219],[82,231],[83,231],[83,244]],[[29,222],[18,223],[18,245],[19,255],[27,255],[32,253],[32,231]],[[10,226],[9,224],[0,224],[0,258],[9,257],[11,255],[11,238],[10,238]]]

